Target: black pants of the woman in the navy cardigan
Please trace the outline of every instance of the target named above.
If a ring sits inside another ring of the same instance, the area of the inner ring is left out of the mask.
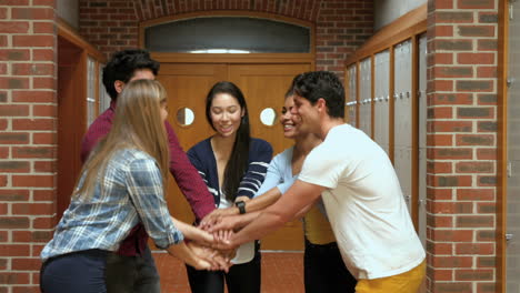
[[[242,264],[234,264],[229,273],[222,271],[198,271],[186,265],[192,293],[223,293],[224,280],[229,293],[260,293],[261,256],[257,243],[254,257]]]

